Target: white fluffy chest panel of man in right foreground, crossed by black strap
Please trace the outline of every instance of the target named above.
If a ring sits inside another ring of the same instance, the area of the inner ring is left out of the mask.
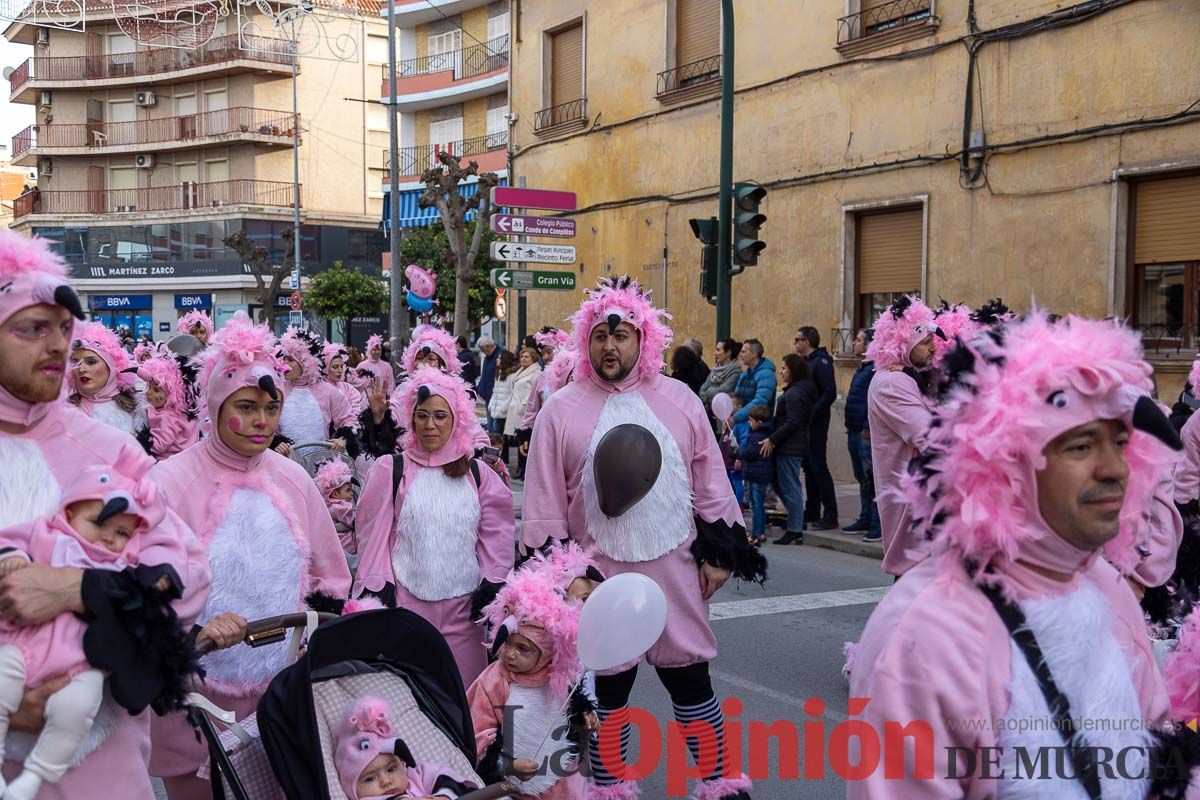
[[[1072,718],[1079,727],[1076,741],[1081,740],[1087,747],[1108,747],[1114,753],[1109,760],[1111,780],[1100,768],[1104,800],[1142,800],[1150,782],[1124,780],[1116,769],[1116,754],[1126,751],[1126,774],[1142,772],[1151,736],[1144,729],[1129,657],[1112,634],[1114,612],[1108,600],[1085,579],[1069,595],[1027,601],[1021,603],[1021,610],[1042,646],[1055,682],[1070,703]],[[1062,735],[1052,724],[1054,717],[1028,661],[1015,643],[1010,643],[1010,652],[1012,699],[998,736],[1003,752],[1001,766],[1008,780],[997,783],[997,796],[1001,800],[1087,800],[1082,783],[1070,777],[1074,771],[1066,758]],[[1086,722],[1079,724],[1079,721]],[[1019,756],[1021,750],[1024,762]],[[1060,753],[1061,769],[1056,762]],[[1042,763],[1049,764],[1051,777],[1064,777],[1036,780],[1039,765],[1031,776],[1028,765],[1039,757]]]

